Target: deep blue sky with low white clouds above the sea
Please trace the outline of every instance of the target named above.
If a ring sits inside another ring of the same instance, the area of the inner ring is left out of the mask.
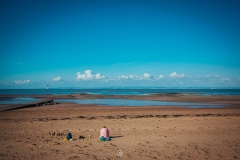
[[[240,87],[238,0],[0,2],[0,88]]]

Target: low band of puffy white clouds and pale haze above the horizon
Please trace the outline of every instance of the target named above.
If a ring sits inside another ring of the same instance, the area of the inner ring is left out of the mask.
[[[92,70],[85,70],[83,73],[77,72],[74,79],[62,78],[61,76],[53,78],[51,81],[32,81],[27,80],[15,80],[11,82],[2,82],[1,87],[7,86],[9,88],[44,88],[46,84],[52,88],[61,87],[79,87],[79,88],[104,88],[104,87],[237,87],[240,83],[240,79],[231,79],[222,77],[220,75],[207,74],[202,77],[186,76],[185,74],[178,74],[172,72],[168,76],[165,75],[150,75],[149,73],[143,73],[142,75],[121,75],[117,77],[106,77],[100,73],[95,74]],[[90,87],[89,87],[90,86]],[[28,88],[28,87],[26,87]]]

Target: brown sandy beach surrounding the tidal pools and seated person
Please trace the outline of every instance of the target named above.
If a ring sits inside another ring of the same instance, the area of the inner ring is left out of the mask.
[[[67,97],[106,98],[99,95],[48,98]],[[239,96],[114,98],[217,102],[230,106],[115,107],[61,103],[0,112],[0,159],[240,159]],[[109,128],[111,141],[99,141],[104,125]],[[69,132],[72,141],[64,140]]]

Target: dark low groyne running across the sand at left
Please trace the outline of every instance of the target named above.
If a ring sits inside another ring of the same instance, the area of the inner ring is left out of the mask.
[[[46,105],[53,105],[53,100],[43,100],[35,103],[28,103],[28,104],[21,104],[21,105],[11,105],[6,107],[1,107],[0,112],[3,111],[10,111],[10,110],[17,110],[22,108],[31,108],[31,107],[40,107],[40,106],[46,106]]]

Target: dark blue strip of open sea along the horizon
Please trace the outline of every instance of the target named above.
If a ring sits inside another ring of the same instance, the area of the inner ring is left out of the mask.
[[[100,95],[149,95],[183,93],[198,95],[240,95],[240,89],[0,89],[0,95],[59,95],[59,94],[100,94]]]

